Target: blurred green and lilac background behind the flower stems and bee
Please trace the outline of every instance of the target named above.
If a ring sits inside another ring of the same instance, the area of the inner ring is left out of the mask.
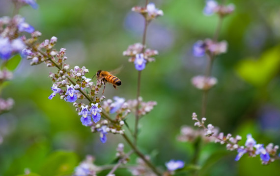
[[[122,85],[107,86],[105,96],[126,100],[136,97],[137,70],[122,56],[127,46],[141,42],[143,19],[130,9],[144,0],[37,0],[39,9],[29,6],[20,14],[42,32],[41,40],[58,38],[56,48],[67,49],[67,63],[86,66],[87,77],[99,69],[124,66],[117,75]],[[193,126],[191,114],[199,116],[201,91],[190,79],[204,74],[205,57],[192,56],[197,40],[212,38],[216,15],[202,13],[204,0],[154,0],[164,16],[153,21],[147,32],[147,46],[157,49],[156,62],[142,71],[141,96],[158,105],[140,121],[139,148],[152,155],[152,161],[164,169],[170,159],[190,163],[194,145],[176,140],[182,125]],[[218,56],[213,75],[218,85],[209,93],[208,123],[224,133],[246,134],[258,143],[280,144],[280,1],[227,0],[235,12],[226,17],[219,40],[228,42],[228,52]],[[12,15],[9,0],[0,0],[0,16]],[[29,66],[23,60],[14,79],[3,89],[4,98],[15,100],[14,108],[0,115],[0,176],[24,174],[25,168],[42,176],[69,175],[69,171],[92,154],[96,164],[112,163],[119,135],[108,134],[107,143],[82,126],[71,103],[52,93],[49,71],[44,65]],[[128,122],[133,124],[134,116]],[[132,125],[133,126],[133,125]],[[279,161],[262,166],[259,157],[245,154],[235,162],[236,152],[225,151],[220,144],[203,144],[198,164],[201,176],[279,176]],[[54,159],[54,158],[59,158]],[[132,156],[132,163],[136,156]],[[53,163],[53,167],[48,164]],[[70,172],[71,173],[71,172]],[[106,175],[103,172],[100,176]],[[190,173],[187,173],[187,175]],[[130,176],[125,170],[116,176]],[[184,174],[183,174],[184,175]]]

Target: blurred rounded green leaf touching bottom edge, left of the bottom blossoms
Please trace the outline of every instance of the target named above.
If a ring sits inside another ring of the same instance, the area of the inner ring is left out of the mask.
[[[78,165],[78,156],[73,152],[57,151],[46,158],[39,174],[44,176],[69,175]]]

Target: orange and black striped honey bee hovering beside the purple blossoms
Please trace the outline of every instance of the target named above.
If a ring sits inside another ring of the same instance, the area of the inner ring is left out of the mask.
[[[97,80],[101,80],[101,82],[104,84],[102,94],[104,93],[107,82],[111,83],[115,89],[117,89],[116,88],[117,86],[121,85],[120,79],[118,79],[116,76],[112,75],[108,71],[98,70],[96,72],[96,77],[97,77]]]

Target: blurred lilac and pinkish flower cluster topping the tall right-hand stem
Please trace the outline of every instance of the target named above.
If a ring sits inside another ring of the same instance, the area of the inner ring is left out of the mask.
[[[214,13],[219,14],[220,16],[226,16],[231,14],[235,9],[233,4],[219,5],[216,0],[206,0],[206,5],[203,9],[203,13],[207,16],[213,15]]]

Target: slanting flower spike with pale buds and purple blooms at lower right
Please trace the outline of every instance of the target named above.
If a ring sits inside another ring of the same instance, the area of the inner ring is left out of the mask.
[[[213,131],[213,125],[208,124],[206,128],[204,124],[206,120],[205,117],[203,117],[200,121],[197,119],[196,113],[193,113],[192,118],[196,121],[195,126],[202,127],[204,129],[205,136],[214,137],[216,138],[215,142],[226,144],[227,150],[236,150],[238,153],[235,157],[236,161],[238,161],[246,153],[250,157],[255,157],[256,155],[259,155],[262,164],[269,164],[275,161],[276,159],[280,159],[280,157],[277,155],[277,150],[279,149],[278,145],[274,146],[273,143],[270,143],[266,147],[264,147],[264,144],[257,144],[256,141],[252,138],[252,135],[248,134],[245,145],[242,146],[238,144],[238,142],[242,139],[240,135],[236,135],[235,137],[233,137],[230,133],[228,133],[227,135],[224,135],[223,132],[217,134]]]

